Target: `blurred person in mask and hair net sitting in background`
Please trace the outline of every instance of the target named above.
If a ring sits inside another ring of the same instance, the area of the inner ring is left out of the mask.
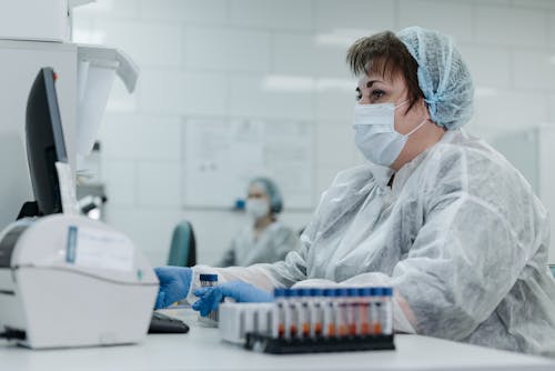
[[[275,182],[268,178],[251,180],[245,211],[249,223],[232,240],[215,267],[273,263],[299,248],[299,238],[278,220],[283,200]]]

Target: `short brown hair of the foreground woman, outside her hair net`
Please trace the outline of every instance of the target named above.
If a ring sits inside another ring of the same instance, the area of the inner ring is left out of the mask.
[[[373,72],[389,79],[402,77],[408,90],[407,111],[418,99],[424,98],[418,86],[418,63],[391,31],[356,40],[349,48],[346,61],[355,76]]]

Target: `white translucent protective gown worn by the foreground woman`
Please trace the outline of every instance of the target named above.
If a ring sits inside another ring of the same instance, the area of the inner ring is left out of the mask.
[[[340,172],[300,251],[274,264],[198,265],[190,300],[206,271],[265,290],[389,284],[397,331],[555,355],[548,214],[521,173],[463,130],[446,131],[390,188],[392,173]]]

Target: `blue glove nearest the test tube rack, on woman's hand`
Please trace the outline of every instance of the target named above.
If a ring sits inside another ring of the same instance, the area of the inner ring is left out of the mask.
[[[264,290],[258,289],[243,281],[232,281],[219,284],[213,288],[200,288],[194,291],[200,299],[193,304],[193,309],[206,317],[211,311],[216,310],[223,298],[233,298],[236,302],[269,302],[274,297]]]

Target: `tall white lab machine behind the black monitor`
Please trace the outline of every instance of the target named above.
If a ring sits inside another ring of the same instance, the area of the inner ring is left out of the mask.
[[[134,90],[139,69],[123,52],[104,46],[71,42],[73,7],[91,0],[9,1],[0,12],[0,228],[18,215],[32,197],[26,156],[26,104],[37,71],[56,70],[60,116],[68,150],[69,177],[77,154],[92,149],[113,78]]]

